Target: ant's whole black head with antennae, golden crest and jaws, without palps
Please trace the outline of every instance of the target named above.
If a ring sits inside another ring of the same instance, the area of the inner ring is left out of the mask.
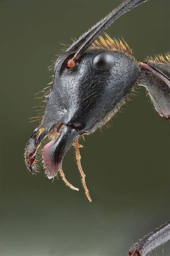
[[[108,35],[95,40],[115,19],[142,2],[125,1],[57,59],[42,123],[25,153],[32,172],[37,148],[45,136],[52,138],[42,151],[45,173],[52,178],[74,141],[101,127],[126,101],[140,75],[131,49]]]

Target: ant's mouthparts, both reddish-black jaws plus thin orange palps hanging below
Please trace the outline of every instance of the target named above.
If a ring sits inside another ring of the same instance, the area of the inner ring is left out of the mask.
[[[67,150],[69,150],[70,146],[74,143],[75,149],[76,149],[76,159],[77,159],[77,165],[82,177],[82,184],[85,189],[86,196],[88,197],[89,201],[91,202],[91,197],[89,195],[89,190],[86,186],[85,182],[85,174],[82,170],[81,167],[81,156],[79,152],[79,145],[78,139],[82,135],[82,133],[75,129],[72,128],[72,126],[66,126],[62,124],[62,126],[55,127],[51,129],[49,133],[44,132],[45,129],[42,128],[38,130],[38,128],[33,132],[32,136],[30,137],[26,151],[25,151],[25,162],[27,165],[27,168],[33,172],[36,173],[34,165],[35,165],[35,157],[36,157],[36,152],[38,149],[38,146],[41,144],[41,141],[43,140],[44,137],[49,135],[51,138],[51,141],[48,142],[42,149],[42,162],[43,162],[43,167],[45,169],[45,174],[46,176],[51,179],[54,178],[58,171],[60,171],[61,177],[65,184],[69,186],[71,189],[74,190],[79,190],[77,187],[74,187],[73,185],[70,184],[69,181],[67,181],[63,170],[62,170],[62,160],[63,157],[65,156]]]

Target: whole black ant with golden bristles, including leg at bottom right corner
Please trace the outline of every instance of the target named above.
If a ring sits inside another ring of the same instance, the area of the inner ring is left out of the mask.
[[[79,190],[66,180],[62,170],[64,155],[71,145],[75,146],[82,185],[90,202],[80,162],[79,138],[107,123],[126,102],[135,84],[146,88],[156,111],[170,121],[170,54],[137,62],[125,41],[111,39],[107,34],[101,37],[116,19],[145,1],[123,1],[58,57],[52,85],[45,96],[44,115],[26,146],[26,166],[36,173],[36,153],[48,136],[50,141],[41,152],[45,174],[51,179],[60,172],[67,186]],[[129,256],[146,255],[169,239],[167,222],[134,244]]]

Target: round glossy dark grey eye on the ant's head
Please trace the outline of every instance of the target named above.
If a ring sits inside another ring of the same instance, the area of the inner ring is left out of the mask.
[[[115,62],[114,56],[108,52],[96,54],[91,59],[91,66],[97,71],[108,69]]]

